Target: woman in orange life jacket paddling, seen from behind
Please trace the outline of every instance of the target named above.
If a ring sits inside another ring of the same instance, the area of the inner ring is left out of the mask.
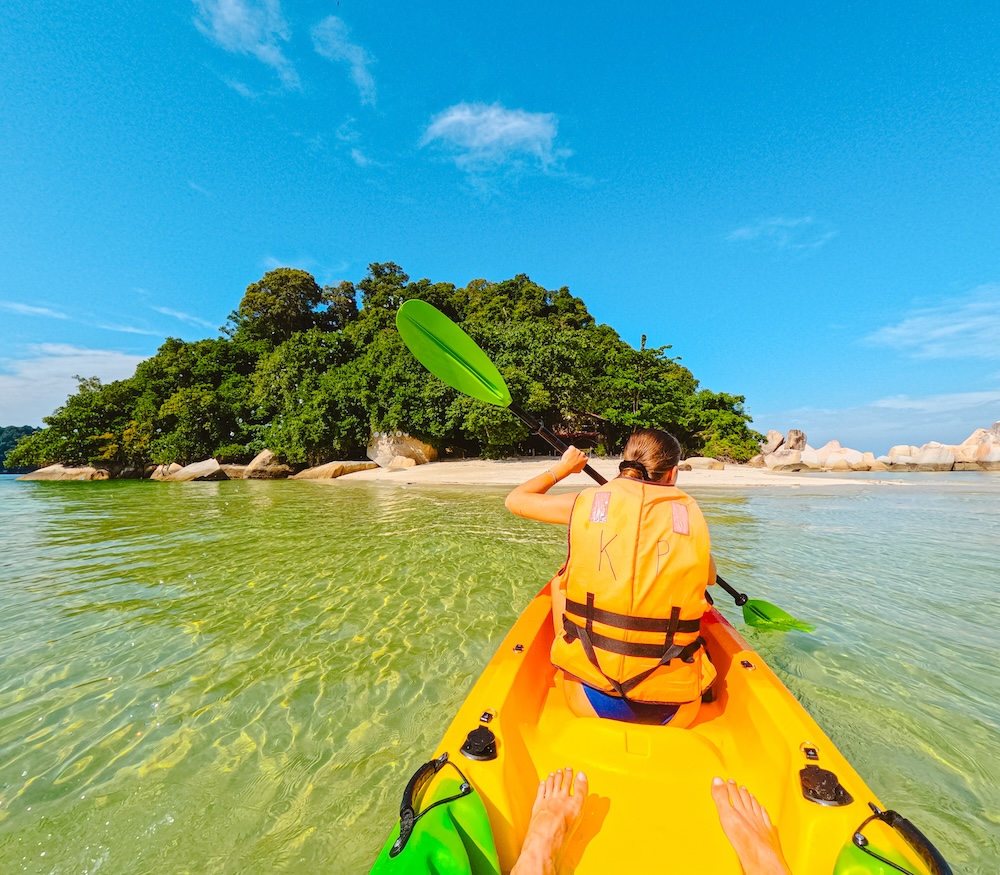
[[[687,726],[715,679],[699,635],[715,563],[701,510],[674,485],[680,445],[640,429],[617,478],[547,494],[587,461],[569,447],[506,501],[519,516],[569,525],[569,554],[552,579],[552,663],[577,714]]]

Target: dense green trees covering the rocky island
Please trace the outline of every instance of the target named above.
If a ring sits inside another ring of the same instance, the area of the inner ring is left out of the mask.
[[[523,274],[458,288],[411,281],[386,262],[356,286],[269,271],[247,287],[223,336],[167,338],[126,380],[77,378],[76,393],[7,464],[236,461],[264,447],[316,464],[361,455],[373,432],[388,430],[487,456],[535,446],[507,410],[459,395],[417,364],[395,327],[411,298],[460,322],[519,405],[581,445],[613,452],[633,429],[653,426],[673,432],[688,455],[757,452],[742,396],[700,388],[670,347],[647,348],[643,338],[634,349],[568,289]]]

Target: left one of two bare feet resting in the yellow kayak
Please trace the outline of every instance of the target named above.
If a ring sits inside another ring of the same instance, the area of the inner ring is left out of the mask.
[[[583,772],[577,774],[575,792],[571,793],[573,789],[570,768],[553,772],[538,785],[528,834],[510,875],[554,875],[583,815],[587,798],[587,776]]]

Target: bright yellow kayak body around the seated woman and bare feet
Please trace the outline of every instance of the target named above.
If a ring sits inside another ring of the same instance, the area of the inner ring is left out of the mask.
[[[525,609],[435,754],[447,751],[483,797],[504,872],[517,859],[538,782],[564,766],[590,783],[564,871],[739,875],[710,792],[716,775],[746,785],[767,808],[794,872],[833,871],[869,802],[882,806],[721,614],[713,609],[702,627],[719,673],[715,701],[689,728],[646,726],[574,715],[549,662],[548,587]],[[490,761],[459,753],[481,718],[497,738]],[[808,765],[834,772],[853,802],[807,800],[799,772]]]

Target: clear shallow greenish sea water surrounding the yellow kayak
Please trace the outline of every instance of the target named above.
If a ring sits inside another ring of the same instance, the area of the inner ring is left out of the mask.
[[[995,873],[1000,478],[901,482],[692,492],[723,576],[818,627],[753,646],[956,872]],[[562,559],[503,495],[0,478],[0,871],[367,871]]]

